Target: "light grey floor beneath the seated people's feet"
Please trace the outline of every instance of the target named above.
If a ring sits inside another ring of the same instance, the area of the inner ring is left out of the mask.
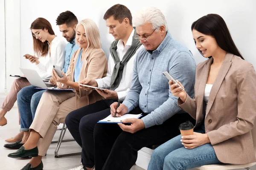
[[[18,125],[18,111],[17,106],[15,106],[10,112],[6,114],[6,119],[8,120],[7,125],[0,126],[0,170],[20,170],[25,166],[29,160],[12,159],[7,157],[9,153],[14,152],[14,150],[8,150],[3,147],[5,139],[15,136],[19,132],[20,126]],[[54,140],[58,139],[60,130],[55,134]],[[67,132],[65,138],[71,138],[70,133]],[[56,144],[51,144],[49,150],[47,151],[47,156],[43,158],[44,170],[68,170],[69,168],[77,167],[81,160],[81,156],[69,156],[63,158],[54,158],[54,150]],[[81,147],[73,142],[64,142],[61,145],[59,153],[70,153],[78,152]],[[142,168],[134,165],[131,170],[143,170]]]

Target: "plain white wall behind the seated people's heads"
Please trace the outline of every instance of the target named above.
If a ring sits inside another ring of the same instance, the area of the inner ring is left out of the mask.
[[[230,29],[231,35],[244,58],[256,67],[253,49],[256,47],[256,1],[253,0],[21,0],[21,54],[32,53],[30,24],[37,17],[45,17],[52,23],[56,35],[61,35],[55,19],[63,11],[70,10],[79,20],[91,18],[99,26],[102,48],[108,54],[113,37],[108,34],[103,15],[116,3],[127,6],[133,15],[143,6],[155,6],[165,14],[172,36],[186,45],[194,54],[196,62],[204,61],[198,53],[190,30],[192,22],[198,18],[216,13],[221,15]],[[51,4],[51,5],[50,5]],[[21,66],[30,63],[21,57]]]

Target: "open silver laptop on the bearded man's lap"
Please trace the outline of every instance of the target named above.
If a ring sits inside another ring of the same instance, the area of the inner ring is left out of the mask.
[[[31,85],[39,88],[55,87],[49,82],[45,82],[35,70],[20,68],[20,71],[25,75]]]

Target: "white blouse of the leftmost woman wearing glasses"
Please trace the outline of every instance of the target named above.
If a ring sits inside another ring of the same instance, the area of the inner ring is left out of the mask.
[[[37,72],[43,80],[49,80],[52,77],[53,65],[64,67],[66,44],[67,41],[64,38],[57,36],[52,40],[51,57],[49,51],[44,57],[39,57],[40,63],[36,65]]]

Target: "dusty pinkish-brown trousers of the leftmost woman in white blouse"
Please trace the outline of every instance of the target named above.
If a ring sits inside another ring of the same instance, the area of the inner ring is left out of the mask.
[[[31,85],[27,79],[18,78],[12,83],[10,93],[3,101],[1,108],[5,111],[10,111],[17,100],[17,93],[24,87]],[[19,112],[19,125],[20,125],[20,112]]]

